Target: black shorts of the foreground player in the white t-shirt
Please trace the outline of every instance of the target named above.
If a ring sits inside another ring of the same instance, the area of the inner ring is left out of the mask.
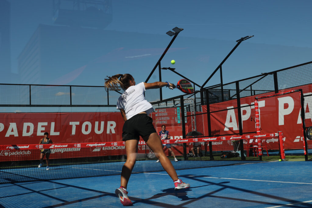
[[[151,133],[157,133],[153,125],[153,119],[147,114],[136,114],[124,122],[122,140],[140,140],[140,136],[144,137]]]

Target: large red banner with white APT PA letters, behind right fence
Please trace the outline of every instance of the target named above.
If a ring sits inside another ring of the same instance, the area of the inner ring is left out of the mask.
[[[288,91],[292,89],[303,89],[303,95],[311,95],[312,85],[298,86],[291,89],[285,89],[283,91]],[[257,96],[263,96],[272,93],[259,94]],[[268,101],[268,105],[261,103],[260,108],[260,120],[261,120],[261,133],[283,131],[283,139],[285,141],[285,149],[296,149],[303,148],[303,129],[300,114],[300,98],[297,95],[287,94],[281,98],[280,103],[278,97],[275,97],[275,101]],[[302,96],[302,95],[301,95]],[[252,119],[255,119],[255,109],[254,109],[254,99],[256,96],[249,96],[241,98],[241,117],[242,117],[242,128],[244,132],[256,131],[256,124]],[[273,98],[272,98],[273,99]],[[261,101],[261,100],[260,100]],[[263,100],[262,100],[263,101]],[[266,102],[266,101],[265,101]],[[275,104],[273,104],[275,102]],[[282,102],[285,102],[282,105]],[[289,102],[289,103],[287,103]],[[292,102],[294,104],[292,108]],[[288,105],[291,105],[290,107]],[[218,111],[216,113],[211,113],[211,129],[212,135],[226,135],[226,134],[239,134],[238,129],[238,117],[237,117],[237,101],[229,100],[222,103],[210,104],[210,112]],[[304,99],[304,112],[305,112],[305,126],[312,126],[312,99]],[[207,106],[202,106],[203,112],[207,112]],[[223,110],[223,111],[221,111]],[[289,114],[286,115],[286,113]],[[274,113],[275,112],[275,113]],[[279,121],[279,112],[283,115],[284,124]],[[263,113],[263,114],[262,114]],[[203,116],[204,120],[207,117]],[[280,122],[280,123],[279,123]],[[199,123],[199,122],[197,122]],[[204,134],[208,135],[207,128],[204,128]]]

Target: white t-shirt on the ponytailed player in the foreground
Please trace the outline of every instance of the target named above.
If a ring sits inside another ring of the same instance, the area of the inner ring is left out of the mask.
[[[130,86],[118,98],[117,109],[124,109],[127,119],[130,119],[136,114],[146,112],[150,114],[154,111],[152,104],[145,99],[144,82]]]

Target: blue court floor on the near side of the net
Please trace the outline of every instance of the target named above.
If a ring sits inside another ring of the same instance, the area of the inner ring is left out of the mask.
[[[178,162],[177,162],[178,163]],[[82,168],[82,167],[81,167]],[[31,169],[25,170],[31,172]],[[66,169],[64,170],[66,171]],[[265,162],[178,170],[190,183],[174,191],[166,172],[132,174],[135,207],[312,207],[311,162]],[[53,174],[42,169],[42,175]],[[123,207],[120,175],[0,184],[2,207]]]

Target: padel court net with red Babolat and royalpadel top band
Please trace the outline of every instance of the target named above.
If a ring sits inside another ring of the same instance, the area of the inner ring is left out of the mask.
[[[285,158],[279,133],[162,142],[176,170]],[[41,151],[49,155],[48,170],[46,157],[39,167]],[[126,159],[124,142],[0,145],[0,183],[119,175]],[[156,171],[164,170],[145,142],[139,141],[133,173]]]

